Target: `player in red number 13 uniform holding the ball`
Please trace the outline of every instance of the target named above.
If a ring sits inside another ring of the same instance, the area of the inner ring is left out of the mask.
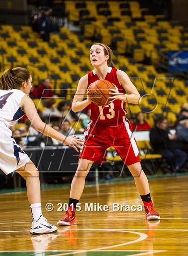
[[[150,197],[147,177],[141,169],[141,159],[132,127],[126,118],[125,102],[138,104],[141,96],[128,75],[114,67],[111,61],[112,51],[107,45],[94,44],[90,48],[90,62],[94,70],[82,76],[72,103],[72,110],[78,112],[91,104],[91,115],[85,129],[85,144],[80,151],[77,171],[71,184],[68,211],[57,225],[77,224],[76,205],[84,190],[85,177],[94,162],[103,162],[107,148],[113,146],[119,153],[134,177],[138,193],[145,208],[147,220],[159,220]],[[105,79],[114,84],[111,90],[110,104],[105,107],[91,103],[84,95],[88,87],[98,79]],[[125,93],[126,92],[126,93]]]

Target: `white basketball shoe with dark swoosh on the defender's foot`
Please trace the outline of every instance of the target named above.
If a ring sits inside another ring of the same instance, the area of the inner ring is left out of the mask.
[[[38,234],[45,234],[45,233],[53,233],[57,231],[57,227],[47,223],[47,219],[40,216],[40,218],[36,221],[33,220],[30,234],[38,235]]]

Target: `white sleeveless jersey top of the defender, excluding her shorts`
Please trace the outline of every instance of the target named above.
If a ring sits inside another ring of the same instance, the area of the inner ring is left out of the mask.
[[[3,121],[7,127],[15,125],[17,120],[25,115],[20,103],[24,92],[21,90],[0,90],[0,122]]]

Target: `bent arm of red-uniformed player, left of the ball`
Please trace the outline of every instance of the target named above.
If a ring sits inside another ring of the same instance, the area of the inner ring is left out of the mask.
[[[73,112],[78,112],[86,108],[90,103],[91,100],[89,98],[84,99],[85,92],[87,90],[87,83],[88,83],[88,76],[82,76],[77,87],[76,94],[74,95],[73,103],[72,103],[72,110]]]

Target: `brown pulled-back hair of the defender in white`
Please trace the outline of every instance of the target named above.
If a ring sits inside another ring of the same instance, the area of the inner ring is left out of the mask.
[[[11,90],[20,89],[21,84],[24,81],[28,81],[30,78],[30,72],[23,67],[15,67],[13,69],[7,69],[0,76],[0,89]]]

